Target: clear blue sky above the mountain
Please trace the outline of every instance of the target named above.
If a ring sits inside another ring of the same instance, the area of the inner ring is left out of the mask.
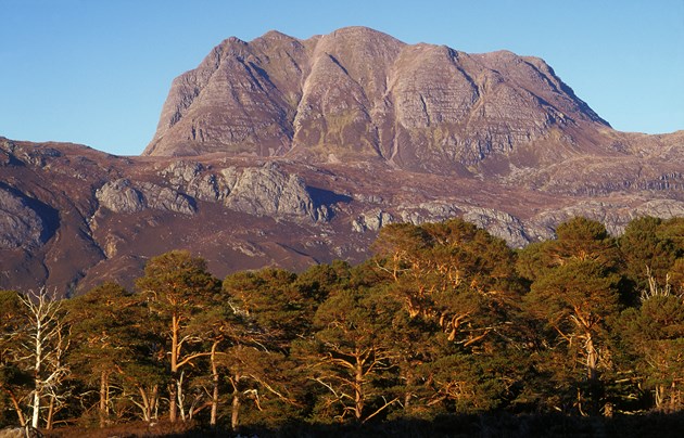
[[[0,136],[137,155],[223,39],[353,25],[540,56],[616,129],[684,129],[684,0],[0,0]]]

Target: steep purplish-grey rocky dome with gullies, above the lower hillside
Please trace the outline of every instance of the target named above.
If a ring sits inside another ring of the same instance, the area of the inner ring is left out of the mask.
[[[607,127],[540,59],[409,46],[364,27],[307,40],[271,31],[230,38],[179,76],[144,155],[376,159],[454,173],[541,142],[534,159],[565,157],[590,146],[578,129],[591,138]]]

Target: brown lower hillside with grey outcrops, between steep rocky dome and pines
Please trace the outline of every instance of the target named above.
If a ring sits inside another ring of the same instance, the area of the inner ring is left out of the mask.
[[[634,218],[684,217],[682,139],[634,143],[657,153],[442,175],[372,160],[118,157],[0,138],[0,288],[76,296],[109,280],[132,289],[150,258],[177,248],[219,278],[355,265],[383,227],[454,217],[512,247],[553,239],[574,216],[619,235]]]

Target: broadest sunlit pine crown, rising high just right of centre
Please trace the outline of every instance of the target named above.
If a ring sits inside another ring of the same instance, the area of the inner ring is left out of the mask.
[[[389,227],[376,248],[378,270],[409,315],[436,322],[464,348],[492,340],[519,301],[512,252],[463,220]]]

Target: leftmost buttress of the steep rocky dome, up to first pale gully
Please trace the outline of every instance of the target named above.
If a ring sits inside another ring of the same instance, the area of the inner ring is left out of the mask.
[[[306,60],[303,43],[277,33],[252,43],[227,39],[174,80],[144,154],[283,154]]]

